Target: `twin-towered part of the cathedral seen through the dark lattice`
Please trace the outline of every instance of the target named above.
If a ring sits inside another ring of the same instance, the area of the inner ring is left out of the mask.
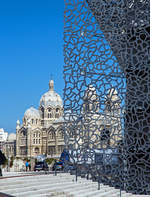
[[[79,115],[68,112],[70,120],[75,120],[65,128],[68,146],[75,150],[118,147],[122,140],[122,112],[121,99],[116,89],[108,89],[107,95],[102,98],[96,88],[89,85],[79,105]]]

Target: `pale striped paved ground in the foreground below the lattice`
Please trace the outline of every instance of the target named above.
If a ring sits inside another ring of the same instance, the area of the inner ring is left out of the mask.
[[[120,191],[113,187],[67,173],[4,173],[0,179],[0,197],[120,197]],[[7,195],[4,195],[7,194]],[[148,197],[122,192],[121,197]]]

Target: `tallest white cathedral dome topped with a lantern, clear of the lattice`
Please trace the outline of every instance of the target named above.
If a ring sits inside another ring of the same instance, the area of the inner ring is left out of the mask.
[[[42,107],[63,107],[63,102],[59,94],[54,91],[54,81],[49,82],[49,91],[46,92],[40,99],[40,106]]]

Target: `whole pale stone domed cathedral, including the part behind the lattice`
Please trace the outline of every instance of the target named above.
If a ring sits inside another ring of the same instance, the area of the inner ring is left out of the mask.
[[[103,109],[100,109],[102,100],[92,85],[85,90],[82,99],[80,117],[77,118],[77,114],[68,112],[69,116],[65,116],[68,126],[65,127],[63,102],[54,91],[54,81],[50,80],[49,91],[41,97],[39,108],[27,109],[22,125],[17,121],[16,157],[35,158],[40,154],[59,157],[65,145],[64,128],[69,143],[74,148],[116,147],[122,139],[121,100],[117,91],[114,88],[109,89],[104,98]],[[68,119],[74,115],[75,119]]]

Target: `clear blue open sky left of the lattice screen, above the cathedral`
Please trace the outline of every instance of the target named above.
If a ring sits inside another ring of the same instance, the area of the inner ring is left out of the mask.
[[[51,74],[63,95],[64,1],[0,0],[0,128],[38,108]]]

